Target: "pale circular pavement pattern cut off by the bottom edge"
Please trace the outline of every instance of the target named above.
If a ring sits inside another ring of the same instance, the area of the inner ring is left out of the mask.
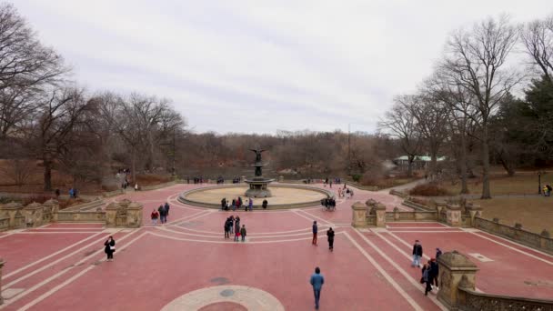
[[[162,311],[284,311],[277,297],[249,286],[212,286],[195,290],[167,304]]]

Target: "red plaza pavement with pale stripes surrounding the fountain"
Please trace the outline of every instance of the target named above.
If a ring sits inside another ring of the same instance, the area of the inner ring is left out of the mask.
[[[338,199],[337,211],[304,209],[223,212],[186,206],[176,197],[199,185],[128,193],[142,202],[139,229],[103,224],[52,224],[0,233],[5,304],[0,310],[311,310],[308,284],[315,266],[326,278],[321,310],[439,310],[435,293],[424,296],[420,270],[410,267],[419,239],[426,258],[436,247],[458,250],[478,265],[479,291],[550,298],[553,256],[474,229],[438,223],[388,224],[356,230],[350,206],[374,198],[400,208],[400,199],[357,190]],[[317,185],[321,186],[321,185]],[[336,189],[336,186],[334,186]],[[153,208],[169,202],[169,223],[152,226]],[[227,216],[239,215],[246,242],[225,239]],[[311,224],[319,244],[311,245]],[[335,228],[335,250],[326,230]],[[113,262],[103,243],[116,239]]]

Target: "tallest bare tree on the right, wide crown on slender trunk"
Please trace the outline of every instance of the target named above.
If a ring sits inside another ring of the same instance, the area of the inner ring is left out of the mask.
[[[507,17],[488,18],[471,31],[459,30],[447,42],[442,69],[448,83],[474,95],[480,121],[482,198],[490,198],[488,123],[498,104],[522,79],[516,71],[503,70],[516,44],[518,32]]]

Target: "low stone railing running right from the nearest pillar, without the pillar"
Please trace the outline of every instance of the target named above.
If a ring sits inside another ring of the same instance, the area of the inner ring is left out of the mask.
[[[539,310],[553,311],[553,301],[524,297],[498,296],[475,292],[469,288],[458,288],[459,309],[480,310]]]

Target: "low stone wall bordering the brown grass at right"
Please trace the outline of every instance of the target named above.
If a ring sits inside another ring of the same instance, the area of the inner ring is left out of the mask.
[[[538,248],[553,254],[553,238],[551,238],[547,230],[543,230],[542,233],[538,235],[523,229],[520,225],[508,226],[499,224],[498,219],[494,221],[480,217],[475,217],[474,226],[493,235],[507,237],[520,244]]]

